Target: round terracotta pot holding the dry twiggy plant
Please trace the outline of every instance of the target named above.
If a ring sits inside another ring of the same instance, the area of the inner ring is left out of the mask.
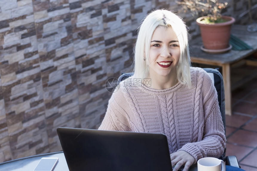
[[[207,16],[200,17],[196,20],[196,23],[199,25],[201,30],[201,38],[204,44],[203,48],[209,49],[210,52],[212,52],[212,50],[217,52],[218,50],[224,51],[229,49],[231,47],[229,45],[230,30],[232,24],[235,22],[235,19],[230,16],[222,16],[228,21],[215,24],[201,23],[200,21],[206,17]]]

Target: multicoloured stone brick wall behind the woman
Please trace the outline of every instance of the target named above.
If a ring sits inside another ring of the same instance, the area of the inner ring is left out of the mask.
[[[246,10],[242,1],[231,15]],[[199,34],[175,1],[1,0],[0,162],[61,151],[57,127],[96,129],[106,80],[131,71],[137,27],[161,8]]]

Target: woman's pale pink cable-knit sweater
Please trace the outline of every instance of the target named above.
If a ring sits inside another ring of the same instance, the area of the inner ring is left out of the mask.
[[[226,137],[217,92],[209,75],[191,67],[192,88],[177,83],[165,90],[134,84],[133,77],[113,93],[100,130],[163,133],[170,153],[219,157]]]

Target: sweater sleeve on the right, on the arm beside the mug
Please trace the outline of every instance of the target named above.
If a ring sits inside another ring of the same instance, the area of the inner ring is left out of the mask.
[[[204,74],[202,86],[204,121],[199,123],[203,138],[196,142],[187,143],[181,149],[191,154],[195,162],[203,157],[220,157],[224,153],[226,137],[218,106],[218,95],[212,80]],[[209,86],[206,86],[209,85]],[[199,135],[198,135],[199,136]],[[199,136],[200,137],[200,136]]]

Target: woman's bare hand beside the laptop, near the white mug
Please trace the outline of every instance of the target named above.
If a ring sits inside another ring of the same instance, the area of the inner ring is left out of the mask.
[[[195,158],[188,152],[180,150],[170,154],[170,160],[172,166],[176,165],[173,168],[173,171],[178,171],[178,169],[183,165],[183,171],[188,171],[189,167],[194,163]]]

